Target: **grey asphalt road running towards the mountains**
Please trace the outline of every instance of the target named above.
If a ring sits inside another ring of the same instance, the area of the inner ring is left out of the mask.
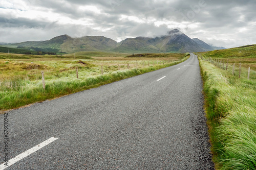
[[[172,67],[10,111],[6,169],[214,169],[203,102],[191,54]]]

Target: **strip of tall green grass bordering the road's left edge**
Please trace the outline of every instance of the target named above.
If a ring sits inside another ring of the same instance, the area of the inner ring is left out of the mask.
[[[120,71],[117,70],[118,68],[116,66],[109,66],[104,68],[106,72],[103,75],[99,74],[99,68],[94,68],[92,64],[92,67],[90,67],[90,64],[88,64],[89,66],[79,67],[79,79],[74,76],[75,69],[68,69],[63,72],[52,71],[49,72],[50,75],[45,72],[45,75],[48,75],[46,77],[45,90],[42,88],[41,77],[40,74],[38,74],[38,71],[31,78],[17,78],[13,79],[12,81],[0,81],[0,110],[3,111],[7,109],[18,108],[31,103],[54,99],[59,96],[130,78],[146,72],[181,63],[187,58],[188,57],[184,57],[179,61],[165,64],[155,64],[154,66],[145,65],[144,67],[138,67],[138,69],[133,67],[129,70],[126,69]],[[76,63],[73,64],[76,65]],[[109,70],[107,70],[107,68],[109,68]],[[92,69],[91,72],[88,71],[90,69]],[[24,72],[24,74],[26,74],[26,72]],[[22,75],[22,77],[27,77],[27,75]]]

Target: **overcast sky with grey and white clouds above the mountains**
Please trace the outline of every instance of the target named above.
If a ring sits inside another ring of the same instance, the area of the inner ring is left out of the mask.
[[[179,29],[209,44],[256,44],[255,0],[0,0],[0,42],[103,35],[165,35]]]

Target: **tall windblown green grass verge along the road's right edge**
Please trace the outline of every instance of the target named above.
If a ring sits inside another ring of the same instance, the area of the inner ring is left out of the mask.
[[[216,168],[256,169],[256,79],[199,61]]]

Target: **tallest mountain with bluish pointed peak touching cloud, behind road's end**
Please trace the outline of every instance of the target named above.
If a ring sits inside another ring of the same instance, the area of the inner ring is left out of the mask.
[[[214,48],[202,42],[199,39],[193,40],[178,29],[175,29],[169,31],[168,35],[156,38],[127,38],[121,41],[114,51],[133,53],[186,53],[214,50]]]

